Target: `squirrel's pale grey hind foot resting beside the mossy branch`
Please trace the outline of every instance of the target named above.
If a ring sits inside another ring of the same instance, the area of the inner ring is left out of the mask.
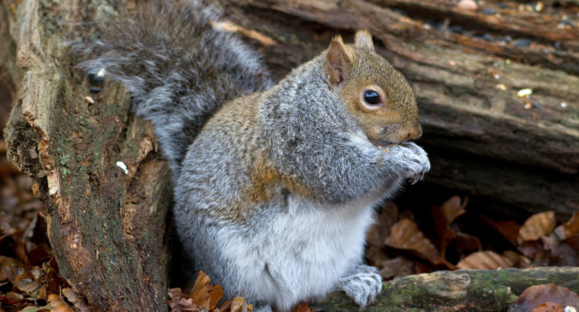
[[[382,290],[382,277],[376,267],[360,266],[355,275],[342,277],[338,288],[345,291],[363,310]]]

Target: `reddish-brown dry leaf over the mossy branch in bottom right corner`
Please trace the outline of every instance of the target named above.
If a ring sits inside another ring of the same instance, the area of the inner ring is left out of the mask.
[[[510,306],[509,311],[531,311],[534,307],[545,302],[579,307],[579,295],[574,291],[570,291],[567,287],[558,286],[554,283],[534,285],[518,296],[518,300]]]

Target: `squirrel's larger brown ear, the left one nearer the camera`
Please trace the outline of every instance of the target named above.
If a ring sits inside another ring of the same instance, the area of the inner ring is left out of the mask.
[[[338,86],[347,79],[347,73],[352,67],[352,60],[346,51],[342,37],[331,40],[328,54],[326,55],[325,70],[328,82]]]

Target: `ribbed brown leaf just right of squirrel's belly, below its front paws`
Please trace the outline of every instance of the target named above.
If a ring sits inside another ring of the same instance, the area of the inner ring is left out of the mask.
[[[439,259],[435,245],[428,241],[416,223],[408,218],[398,221],[390,228],[390,235],[385,242],[390,247],[414,251],[418,256],[428,259],[431,263],[436,263]]]

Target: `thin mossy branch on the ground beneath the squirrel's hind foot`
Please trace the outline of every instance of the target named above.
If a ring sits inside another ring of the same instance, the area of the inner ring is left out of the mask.
[[[556,283],[579,291],[577,267],[506,268],[439,271],[384,283],[376,302],[365,311],[506,311],[526,288]],[[355,311],[342,292],[311,303],[324,311]]]

